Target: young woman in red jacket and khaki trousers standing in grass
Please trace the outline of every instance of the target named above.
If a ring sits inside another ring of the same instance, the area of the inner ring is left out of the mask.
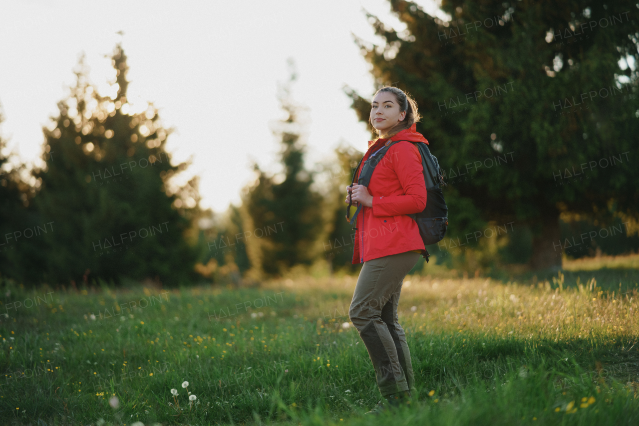
[[[426,253],[417,223],[406,216],[426,207],[422,157],[411,142],[426,142],[415,131],[420,116],[415,101],[397,89],[382,87],[371,103],[371,125],[378,133],[369,141],[364,160],[386,142],[389,148],[375,167],[368,187],[346,187],[356,206],[362,204],[355,225],[353,264],[364,262],[355,285],[349,316],[366,345],[383,400],[391,406],[410,404],[415,389],[410,351],[397,322],[397,303],[406,273]],[[359,176],[357,174],[355,182]],[[380,400],[369,413],[384,409]]]

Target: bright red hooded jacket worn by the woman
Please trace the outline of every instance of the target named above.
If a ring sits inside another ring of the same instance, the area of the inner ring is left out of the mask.
[[[419,213],[426,207],[422,157],[410,141],[426,144],[428,141],[415,131],[414,124],[390,139],[409,142],[391,146],[375,167],[368,185],[368,192],[373,195],[373,207],[362,206],[355,222],[353,264],[410,250],[426,250],[417,223],[406,215]],[[387,141],[369,141],[362,165]],[[355,183],[361,169],[360,166]]]

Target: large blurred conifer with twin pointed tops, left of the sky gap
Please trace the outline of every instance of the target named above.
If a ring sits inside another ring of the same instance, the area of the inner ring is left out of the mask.
[[[34,202],[50,229],[33,239],[40,250],[25,280],[176,285],[195,278],[197,250],[189,241],[197,239],[197,179],[171,186],[169,179],[187,167],[171,165],[164,149],[171,129],[153,105],[130,113],[121,45],[111,59],[116,95],[101,96],[81,60],[75,87],[52,118],[55,128],[43,128],[46,165],[34,172],[40,182]]]

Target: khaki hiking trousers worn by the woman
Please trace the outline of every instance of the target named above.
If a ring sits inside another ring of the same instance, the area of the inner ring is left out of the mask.
[[[364,262],[348,310],[373,362],[381,395],[415,388],[397,304],[402,281],[419,257],[419,253],[405,252]]]

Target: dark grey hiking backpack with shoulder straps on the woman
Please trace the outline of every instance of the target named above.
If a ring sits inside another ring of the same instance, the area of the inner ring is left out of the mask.
[[[371,181],[371,176],[373,176],[373,172],[375,167],[380,163],[383,156],[387,153],[389,148],[401,141],[387,141],[384,146],[375,153],[371,154],[369,158],[364,162],[362,166],[362,172],[360,172],[359,179],[357,181],[358,185],[368,186]],[[426,207],[420,213],[413,213],[409,216],[415,222],[417,222],[417,227],[419,227],[419,234],[422,237],[422,241],[424,241],[424,246],[436,244],[439,241],[442,241],[444,235],[446,234],[446,230],[448,229],[448,207],[446,206],[446,202],[443,199],[443,193],[441,186],[445,186],[446,183],[443,181],[443,171],[439,167],[439,163],[437,162],[437,158],[431,154],[428,146],[424,142],[411,142],[417,145],[417,149],[419,149],[419,153],[422,156],[422,167],[424,172],[424,183],[426,183]],[[362,157],[364,160],[364,157]],[[351,186],[355,183],[355,176],[357,176],[357,170],[362,164],[362,160],[355,167],[355,172],[353,173],[353,179],[351,179]],[[359,211],[362,209],[362,204],[358,203],[357,210],[353,215],[353,218],[349,218],[350,216],[350,208],[353,201],[351,200],[348,203],[348,207],[346,208],[346,220],[350,221],[350,224],[355,224],[355,218]],[[355,229],[355,228],[353,228]],[[423,256],[428,261],[428,250],[426,250],[426,254]]]

